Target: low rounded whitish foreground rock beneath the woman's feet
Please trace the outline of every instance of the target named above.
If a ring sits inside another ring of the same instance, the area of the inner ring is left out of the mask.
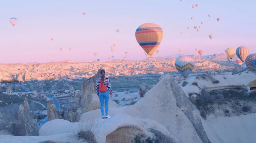
[[[128,129],[129,127],[131,127],[134,130],[138,129],[139,132],[137,132],[137,134],[143,133],[146,134],[147,136],[152,136],[152,133],[148,131],[149,129],[156,129],[162,132],[163,134],[170,136],[171,139],[175,141],[175,143],[182,143],[176,137],[174,137],[163,125],[160,125],[156,121],[150,119],[140,119],[132,117],[127,114],[119,114],[114,117],[111,117],[108,120],[96,118],[93,120],[87,120],[87,122],[83,123],[70,123],[69,121],[59,119],[52,120],[45,123],[44,126],[41,127],[39,135],[45,136],[54,134],[68,134],[74,132],[76,133],[80,129],[92,129],[93,132],[96,132],[95,138],[98,141],[98,143],[109,143],[111,141],[124,139],[124,136],[122,135],[111,137],[111,133],[115,132],[120,128]],[[51,130],[49,130],[49,128]],[[121,132],[125,132],[125,130]],[[132,138],[130,137],[126,139]]]

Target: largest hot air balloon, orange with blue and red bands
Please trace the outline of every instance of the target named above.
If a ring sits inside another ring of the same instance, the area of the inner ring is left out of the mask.
[[[136,29],[135,37],[142,49],[151,57],[163,39],[163,30],[154,23],[145,23]]]

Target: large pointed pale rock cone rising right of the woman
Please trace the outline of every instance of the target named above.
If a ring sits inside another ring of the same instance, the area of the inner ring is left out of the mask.
[[[82,114],[80,122],[86,122],[88,117],[100,118],[99,112],[97,109]],[[174,83],[171,74],[162,77],[162,80],[133,106],[110,108],[109,114],[112,117],[129,114],[137,118],[154,120],[165,126],[182,143],[209,143],[197,110],[180,86]]]

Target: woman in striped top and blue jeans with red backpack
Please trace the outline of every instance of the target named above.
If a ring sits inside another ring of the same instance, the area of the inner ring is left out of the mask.
[[[108,119],[111,116],[108,115],[108,100],[109,100],[109,93],[110,97],[112,97],[112,88],[111,83],[108,77],[105,76],[105,70],[102,69],[100,71],[101,77],[99,77],[96,80],[96,90],[97,95],[99,96],[99,102],[100,102],[100,111],[102,112],[102,119]],[[104,114],[104,100],[105,100],[105,111],[106,116]]]

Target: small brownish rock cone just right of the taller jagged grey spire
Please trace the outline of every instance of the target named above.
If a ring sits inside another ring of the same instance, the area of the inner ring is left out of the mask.
[[[54,119],[62,119],[52,99],[47,101],[47,116],[48,121]]]

